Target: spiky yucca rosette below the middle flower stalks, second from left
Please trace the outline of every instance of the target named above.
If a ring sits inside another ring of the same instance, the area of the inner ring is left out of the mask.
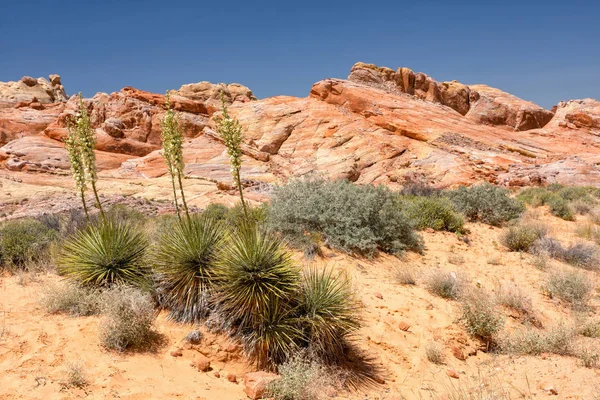
[[[171,318],[199,322],[208,313],[215,263],[225,228],[209,215],[180,220],[159,238],[154,266]]]

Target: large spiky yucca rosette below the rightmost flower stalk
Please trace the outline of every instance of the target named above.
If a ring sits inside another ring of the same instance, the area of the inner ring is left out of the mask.
[[[255,223],[241,223],[218,264],[216,300],[241,326],[252,325],[274,301],[297,292],[300,273],[281,239]]]

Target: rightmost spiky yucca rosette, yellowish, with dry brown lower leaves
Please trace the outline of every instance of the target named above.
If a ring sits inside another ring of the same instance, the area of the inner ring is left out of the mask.
[[[330,268],[304,272],[299,317],[308,346],[319,356],[335,360],[343,352],[348,336],[360,328],[358,311],[346,276]]]

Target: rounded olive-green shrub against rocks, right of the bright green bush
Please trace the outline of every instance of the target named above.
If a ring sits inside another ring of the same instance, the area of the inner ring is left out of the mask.
[[[518,218],[525,210],[523,203],[510,197],[510,192],[489,183],[461,186],[446,192],[456,209],[471,221],[500,226]]]

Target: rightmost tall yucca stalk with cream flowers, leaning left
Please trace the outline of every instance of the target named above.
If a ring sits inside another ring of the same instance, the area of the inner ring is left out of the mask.
[[[229,164],[231,165],[231,175],[233,175],[233,179],[240,192],[240,200],[242,201],[244,215],[246,219],[248,219],[248,210],[246,209],[244,191],[242,190],[242,180],[240,178],[240,170],[242,169],[242,140],[244,138],[242,125],[237,118],[233,118],[229,115],[223,93],[221,93],[221,104],[223,115],[217,120],[217,131],[225,142],[225,147],[227,147]]]

